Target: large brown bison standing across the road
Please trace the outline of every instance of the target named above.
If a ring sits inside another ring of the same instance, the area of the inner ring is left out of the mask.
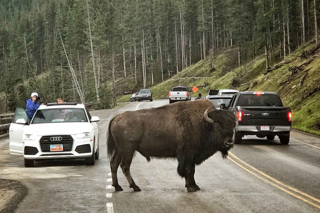
[[[235,121],[233,112],[216,110],[204,99],[116,115],[109,122],[107,139],[112,186],[123,190],[117,179],[120,165],[130,188],[141,191],[130,174],[138,151],[148,162],[150,157],[177,159],[177,172],[185,178],[187,190],[200,190],[194,179],[195,165],[218,151],[227,158],[233,147]]]

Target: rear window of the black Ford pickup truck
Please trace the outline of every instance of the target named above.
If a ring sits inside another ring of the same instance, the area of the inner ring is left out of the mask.
[[[239,96],[237,106],[270,107],[282,106],[282,103],[278,95],[274,94],[241,94]]]

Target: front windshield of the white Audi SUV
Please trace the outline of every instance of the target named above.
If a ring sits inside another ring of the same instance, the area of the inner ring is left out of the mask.
[[[52,108],[37,110],[31,124],[88,122],[82,108]]]

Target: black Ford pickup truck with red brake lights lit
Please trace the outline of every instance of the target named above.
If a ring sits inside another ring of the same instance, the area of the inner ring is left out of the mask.
[[[232,97],[226,109],[238,115],[235,144],[241,143],[244,135],[267,137],[267,140],[274,140],[277,135],[281,144],[289,143],[292,112],[283,106],[277,93],[239,92]]]

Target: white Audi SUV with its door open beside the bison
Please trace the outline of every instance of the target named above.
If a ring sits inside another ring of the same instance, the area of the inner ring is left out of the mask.
[[[34,160],[60,158],[84,158],[94,165],[99,159],[98,121],[77,103],[40,105],[31,122],[17,108],[9,127],[10,153],[23,156],[25,167],[32,167]]]

